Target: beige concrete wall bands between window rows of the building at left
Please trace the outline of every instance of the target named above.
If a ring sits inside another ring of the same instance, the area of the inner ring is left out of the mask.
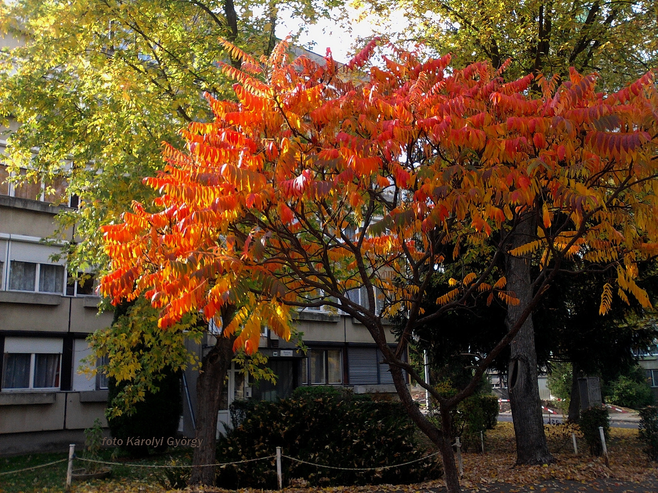
[[[61,210],[47,202],[0,195],[0,233],[10,240],[15,235],[18,239],[49,237],[56,228],[54,216]],[[72,231],[66,231],[63,239],[72,240]],[[84,339],[112,321],[111,313],[99,314],[99,301],[96,296],[0,291],[0,340],[2,336]],[[69,372],[76,371],[77,362],[64,354],[61,358],[62,384]],[[83,431],[95,419],[107,427],[106,406],[107,390],[0,391],[0,454],[66,450],[71,442],[84,444]]]

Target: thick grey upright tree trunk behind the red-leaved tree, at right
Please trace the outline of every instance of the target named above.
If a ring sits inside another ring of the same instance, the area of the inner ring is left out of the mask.
[[[534,211],[520,217],[511,248],[525,245],[535,237]],[[530,258],[505,255],[507,291],[519,298],[517,306],[509,305],[505,324],[511,329],[532,300]],[[517,464],[547,464],[553,461],[544,434],[544,418],[537,381],[537,354],[532,316],[521,326],[510,344],[508,388],[512,419],[517,440]]]

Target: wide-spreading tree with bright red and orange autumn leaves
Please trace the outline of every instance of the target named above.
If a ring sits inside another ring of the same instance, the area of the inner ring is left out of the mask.
[[[164,172],[145,179],[159,199],[104,228],[113,272],[101,290],[114,302],[145,294],[163,331],[201,310],[247,352],[264,324],[286,337],[297,308],[343,310],[372,335],[457,492],[453,437],[442,432],[449,410],[472,394],[565,258],[615,264],[602,312],[615,294],[649,304],[635,279],[637,262],[658,250],[658,94],[651,74],[602,95],[595,76],[503,83],[488,64],[453,72],[449,57],[394,48],[372,66],[374,48],[343,67],[330,55],[288,62],[285,43],[261,60],[236,49],[242,70],[223,70],[238,103],[208,97],[215,121],[191,124],[188,149],[166,147]],[[543,94],[529,93],[532,84]],[[490,262],[449,279],[440,308],[424,313],[442,262],[491,245]],[[505,254],[538,255],[532,293],[501,275]],[[347,295],[359,287],[363,304]],[[447,310],[495,297],[524,309],[467,387],[443,396],[404,361],[407,341]],[[388,320],[399,314],[392,349]],[[415,406],[405,371],[440,403],[441,427]]]

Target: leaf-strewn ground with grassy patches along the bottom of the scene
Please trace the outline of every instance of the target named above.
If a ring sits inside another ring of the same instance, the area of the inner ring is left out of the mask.
[[[610,467],[603,459],[592,458],[585,450],[585,444],[578,440],[579,454],[574,456],[571,430],[564,426],[547,426],[547,437],[555,463],[547,466],[515,467],[514,431],[511,423],[498,423],[486,436],[486,453],[465,453],[464,491],[478,493],[644,493],[658,492],[658,464],[649,462],[642,452],[636,429],[611,429],[608,444]],[[179,459],[185,459],[181,457]],[[53,460],[53,459],[49,459]],[[45,460],[43,461],[45,462]],[[163,463],[163,460],[160,461]],[[17,469],[11,459],[0,459],[0,472]],[[47,474],[43,469],[34,474],[22,473],[18,477],[0,476],[0,492],[42,492],[56,493],[63,490],[65,463],[58,464],[60,472],[55,482],[41,484],[35,481]],[[47,469],[47,468],[45,468]],[[118,469],[118,470],[117,470]],[[40,472],[39,472],[40,471]],[[116,468],[111,481],[74,484],[72,493],[163,493],[166,491],[161,481],[162,469],[142,470],[132,474],[127,467]],[[31,479],[34,476],[34,479]],[[220,488],[207,488],[205,492],[225,492]],[[243,492],[259,493],[255,490]],[[286,488],[286,493],[316,492],[361,492],[361,493],[411,493],[445,491],[442,481],[404,486],[346,486],[336,488]]]

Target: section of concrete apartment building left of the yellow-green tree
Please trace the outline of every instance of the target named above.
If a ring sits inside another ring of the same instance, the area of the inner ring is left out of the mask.
[[[46,195],[42,183],[15,186],[7,177],[0,164],[0,454],[63,450],[105,420],[107,381],[78,367],[89,354],[85,338],[112,316],[98,314],[92,277],[68,279],[64,260],[51,258],[61,250],[46,241],[55,214],[76,206],[75,197],[55,205],[64,183]],[[61,238],[74,240],[72,230]]]

